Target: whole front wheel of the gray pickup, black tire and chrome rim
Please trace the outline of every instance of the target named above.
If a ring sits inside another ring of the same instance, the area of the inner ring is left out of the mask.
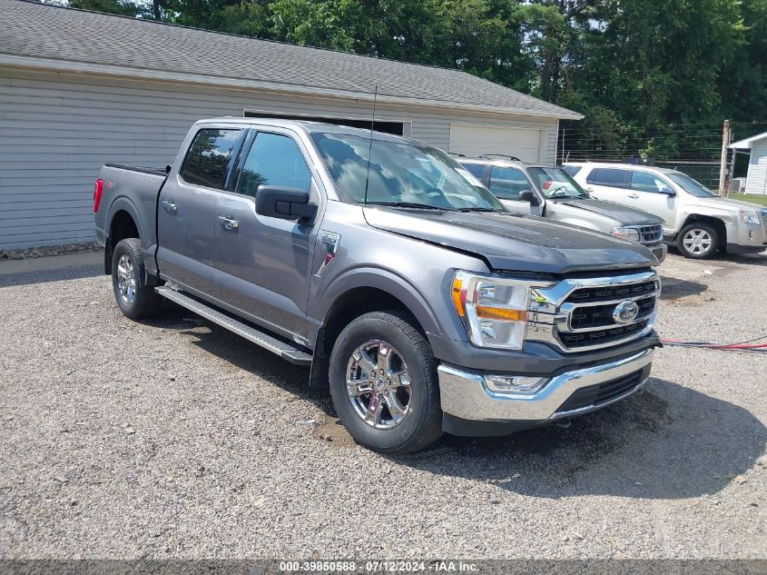
[[[329,382],[341,423],[370,450],[412,453],[442,435],[437,360],[400,312],[349,323],[330,354]]]

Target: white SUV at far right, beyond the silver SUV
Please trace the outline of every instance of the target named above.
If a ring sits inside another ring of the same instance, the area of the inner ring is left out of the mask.
[[[689,175],[630,164],[568,163],[577,183],[596,198],[654,213],[664,238],[686,257],[717,251],[759,253],[767,249],[767,209],[718,196]]]

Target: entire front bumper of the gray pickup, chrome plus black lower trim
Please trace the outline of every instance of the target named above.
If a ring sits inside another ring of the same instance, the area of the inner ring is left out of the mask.
[[[560,373],[531,394],[491,391],[483,372],[442,363],[438,375],[446,415],[443,427],[461,435],[497,435],[595,411],[644,385],[653,352],[645,349],[614,362]],[[501,432],[490,430],[492,424],[498,424]]]

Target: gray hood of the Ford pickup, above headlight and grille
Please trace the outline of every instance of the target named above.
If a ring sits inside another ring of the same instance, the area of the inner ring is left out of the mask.
[[[544,218],[505,212],[439,212],[366,206],[368,223],[474,253],[494,270],[573,273],[657,265],[643,245]]]

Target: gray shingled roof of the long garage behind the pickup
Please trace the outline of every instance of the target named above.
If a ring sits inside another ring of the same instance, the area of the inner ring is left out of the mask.
[[[0,0],[0,63],[578,119],[477,76],[151,20]]]

